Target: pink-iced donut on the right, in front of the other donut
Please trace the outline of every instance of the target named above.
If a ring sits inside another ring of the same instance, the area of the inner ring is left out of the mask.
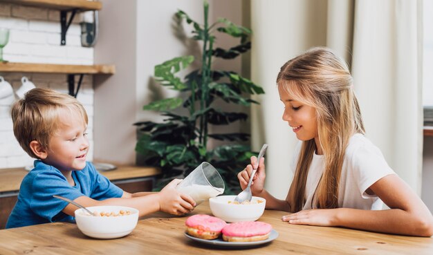
[[[228,242],[254,242],[266,240],[272,226],[261,221],[241,221],[223,228],[223,240]]]

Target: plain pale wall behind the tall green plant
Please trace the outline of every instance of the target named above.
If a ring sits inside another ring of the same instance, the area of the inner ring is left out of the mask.
[[[142,106],[174,96],[173,91],[164,90],[154,82],[154,66],[200,50],[190,40],[176,37],[173,16],[181,9],[201,23],[203,1],[104,0],[102,3],[95,62],[115,64],[116,75],[103,80],[95,78],[95,159],[133,164],[136,162],[136,127],[133,123],[158,120],[155,113],[142,111]],[[241,1],[209,3],[211,21],[225,17],[241,24]],[[191,30],[185,26],[187,36]],[[231,42],[226,37],[219,37],[216,46],[227,46]],[[215,60],[214,68],[241,72],[240,58]]]

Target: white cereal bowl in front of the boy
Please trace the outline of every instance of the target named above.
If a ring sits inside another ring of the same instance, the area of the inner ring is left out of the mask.
[[[75,210],[75,221],[78,229],[86,236],[93,238],[110,239],[126,236],[131,233],[138,222],[138,209],[122,206],[87,207],[92,212],[113,212],[119,214],[120,210],[131,211],[123,216],[91,216],[84,209]]]

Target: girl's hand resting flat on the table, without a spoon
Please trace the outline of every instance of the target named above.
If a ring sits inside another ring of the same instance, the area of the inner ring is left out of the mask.
[[[335,226],[338,209],[309,209],[285,215],[283,221],[297,225]]]

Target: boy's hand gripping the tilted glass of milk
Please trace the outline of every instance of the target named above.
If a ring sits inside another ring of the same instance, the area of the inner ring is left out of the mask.
[[[194,209],[196,202],[187,194],[179,193],[176,189],[176,185],[181,181],[179,179],[172,180],[158,193],[160,211],[183,215]]]

